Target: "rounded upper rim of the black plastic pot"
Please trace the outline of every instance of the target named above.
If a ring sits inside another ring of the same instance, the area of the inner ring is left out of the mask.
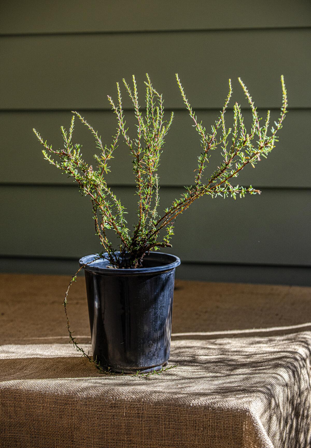
[[[106,255],[105,252],[104,255]],[[115,254],[120,254],[120,252],[115,252]],[[90,263],[92,258],[95,258],[96,254],[86,255],[79,260],[79,265],[83,266],[86,263]],[[139,268],[124,268],[124,269],[111,269],[107,268],[108,260],[97,260],[95,263],[101,262],[105,263],[103,267],[92,266],[92,263],[83,267],[85,271],[92,272],[93,274],[104,274],[109,276],[133,276],[133,275],[141,275],[141,274],[153,274],[156,272],[166,272],[175,269],[175,267],[179,266],[181,261],[176,255],[166,254],[165,252],[150,252],[149,255],[145,255],[148,257],[149,261],[154,261],[160,263],[159,266],[153,267],[139,267]],[[151,257],[151,258],[150,258]]]

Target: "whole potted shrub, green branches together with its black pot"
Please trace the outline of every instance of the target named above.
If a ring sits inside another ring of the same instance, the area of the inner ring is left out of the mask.
[[[229,94],[220,115],[210,132],[197,120],[194,110],[186,98],[181,82],[176,75],[182,99],[188,109],[193,125],[199,134],[201,153],[195,170],[194,185],[186,186],[179,199],[159,213],[159,178],[157,169],[164,146],[165,136],[173,121],[164,120],[163,98],[152,86],[147,75],[146,108],[142,112],[138,104],[138,91],[133,76],[130,87],[123,79],[127,94],[134,107],[137,135],[130,137],[125,125],[120,86],[117,83],[116,103],[108,96],[112,111],[117,118],[117,131],[110,146],[103,145],[101,138],[91,125],[78,113],[73,112],[70,129],[61,127],[64,148],[53,149],[34,129],[39,142],[44,146],[43,155],[48,162],[59,168],[78,183],[83,195],[91,199],[95,231],[103,246],[99,254],[86,255],[80,260],[84,269],[86,291],[91,325],[93,361],[101,371],[120,373],[150,372],[163,370],[168,362],[171,338],[171,320],[175,268],[180,264],[174,255],[159,252],[161,248],[172,247],[174,222],[196,199],[204,194],[243,197],[246,193],[256,194],[252,186],[244,188],[232,181],[248,164],[253,167],[261,157],[267,157],[277,142],[287,111],[287,95],[283,76],[281,85],[283,102],[281,115],[275,127],[269,128],[270,112],[261,125],[254,102],[240,78],[242,89],[252,112],[249,132],[244,125],[241,107],[233,106],[233,128],[225,126],[225,112],[231,98]],[[98,154],[94,157],[94,168],[82,159],[81,145],[73,144],[74,118],[90,129],[95,138]],[[230,142],[229,142],[230,138]],[[109,171],[109,160],[118,142],[123,139],[132,155],[133,171],[138,197],[137,223],[133,230],[127,227],[125,208],[109,188],[105,174]],[[216,147],[222,149],[222,164],[207,179],[204,171],[210,152]],[[56,158],[53,159],[52,155]],[[119,238],[118,250],[112,245],[109,233]],[[80,270],[79,269],[79,270]],[[73,280],[75,280],[73,276]],[[73,281],[72,280],[72,281]],[[70,282],[71,284],[71,282]],[[69,284],[69,286],[70,286]],[[69,288],[68,288],[69,289]],[[84,356],[92,358],[81,349],[72,336],[66,310],[70,339]]]

